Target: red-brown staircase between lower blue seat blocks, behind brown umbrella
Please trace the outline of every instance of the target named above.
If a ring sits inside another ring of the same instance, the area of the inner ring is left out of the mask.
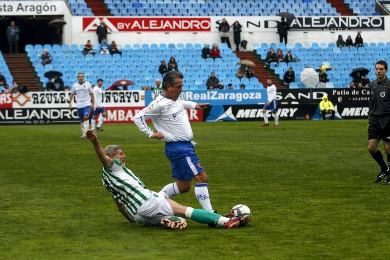
[[[267,79],[271,78],[273,84],[276,86],[276,88],[285,88],[284,84],[281,80],[279,80],[279,77],[275,75],[271,70],[267,70],[266,64],[264,61],[262,61],[257,55],[256,52],[234,52],[237,57],[240,59],[249,59],[256,64],[252,69],[254,71],[254,75],[259,79],[261,83],[263,83],[264,86],[267,85]]]

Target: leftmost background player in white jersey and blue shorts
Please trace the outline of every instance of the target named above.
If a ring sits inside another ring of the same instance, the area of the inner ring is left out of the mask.
[[[89,112],[91,106],[94,105],[94,93],[92,90],[91,83],[84,81],[84,73],[77,74],[78,83],[73,84],[70,99],[69,109],[72,109],[73,96],[76,95],[77,113],[80,118],[81,125],[81,139],[85,139],[85,132],[89,129]]]

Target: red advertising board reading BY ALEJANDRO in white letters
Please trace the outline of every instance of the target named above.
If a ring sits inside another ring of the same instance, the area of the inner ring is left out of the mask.
[[[83,32],[96,31],[104,21],[111,32],[209,32],[209,17],[84,17]]]

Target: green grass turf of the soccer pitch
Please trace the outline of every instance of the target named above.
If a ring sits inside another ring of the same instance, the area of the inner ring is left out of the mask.
[[[178,231],[126,222],[78,125],[1,127],[0,258],[388,257],[390,186],[373,183],[367,120],[260,124],[192,125],[214,208],[246,204],[253,218],[232,230],[187,220]],[[133,124],[103,127],[100,143],[121,144],[148,188],[173,181],[163,142]],[[200,207],[193,188],[174,199]]]

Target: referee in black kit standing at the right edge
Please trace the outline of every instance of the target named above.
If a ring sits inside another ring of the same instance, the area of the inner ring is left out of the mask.
[[[377,79],[370,83],[369,99],[369,146],[368,150],[374,160],[381,167],[381,171],[375,179],[379,183],[388,176],[384,185],[390,185],[390,80],[386,76],[388,64],[379,60],[375,64]],[[387,154],[388,165],[383,160],[382,153],[378,150],[380,140],[383,140]]]

